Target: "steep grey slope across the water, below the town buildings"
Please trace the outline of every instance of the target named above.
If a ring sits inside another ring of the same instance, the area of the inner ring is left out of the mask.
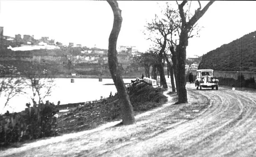
[[[39,67],[41,71],[46,69],[50,77],[71,77],[76,73],[79,77],[89,75],[109,76],[107,53],[82,53],[81,48],[65,48],[32,51],[11,51],[1,49],[0,64],[15,66],[23,75],[31,67]],[[134,76],[144,73],[143,67],[132,65],[133,57],[129,54],[118,54],[123,75]],[[34,68],[33,68],[34,69]]]

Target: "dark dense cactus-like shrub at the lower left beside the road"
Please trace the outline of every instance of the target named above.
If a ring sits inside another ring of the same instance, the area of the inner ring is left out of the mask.
[[[39,104],[20,113],[5,113],[0,115],[0,146],[8,146],[14,142],[27,139],[38,139],[57,135],[57,119],[54,116],[58,110],[54,104]]]

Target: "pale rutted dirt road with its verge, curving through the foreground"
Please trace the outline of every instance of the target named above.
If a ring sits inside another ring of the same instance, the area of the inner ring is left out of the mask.
[[[256,157],[256,91],[187,84],[187,93],[188,104],[174,105],[171,95],[136,124],[40,140],[0,157]]]

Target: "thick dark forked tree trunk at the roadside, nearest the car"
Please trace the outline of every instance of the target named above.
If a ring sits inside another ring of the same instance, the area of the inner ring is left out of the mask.
[[[187,90],[186,90],[186,78],[185,78],[185,62],[186,62],[186,48],[188,45],[188,39],[190,37],[190,32],[194,28],[196,22],[203,16],[214,1],[208,2],[206,6],[201,10],[201,3],[199,3],[199,8],[195,11],[192,18],[186,18],[186,12],[184,12],[183,7],[187,1],[183,1],[178,4],[178,9],[181,17],[181,32],[179,34],[179,44],[177,45],[177,79],[179,80],[177,86],[179,86],[178,92],[178,103],[187,103]],[[188,22],[187,22],[188,20]]]

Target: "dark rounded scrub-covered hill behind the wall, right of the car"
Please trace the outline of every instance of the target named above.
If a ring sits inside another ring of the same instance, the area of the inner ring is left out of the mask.
[[[198,69],[256,72],[256,31],[206,53]]]

